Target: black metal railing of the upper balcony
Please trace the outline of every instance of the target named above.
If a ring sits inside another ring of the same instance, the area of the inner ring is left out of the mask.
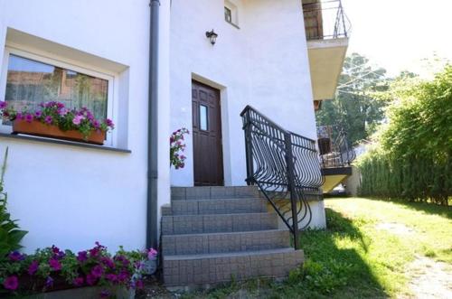
[[[341,0],[303,0],[303,15],[308,41],[347,37],[351,29]]]

